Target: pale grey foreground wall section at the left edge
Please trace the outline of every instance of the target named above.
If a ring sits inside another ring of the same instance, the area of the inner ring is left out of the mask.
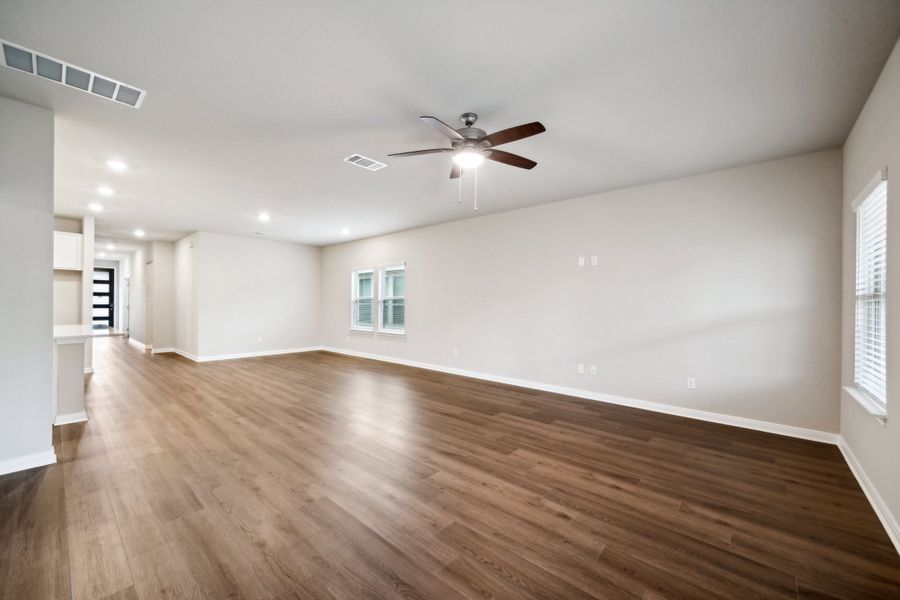
[[[0,97],[0,132],[0,473],[5,473],[55,460],[53,114]]]

